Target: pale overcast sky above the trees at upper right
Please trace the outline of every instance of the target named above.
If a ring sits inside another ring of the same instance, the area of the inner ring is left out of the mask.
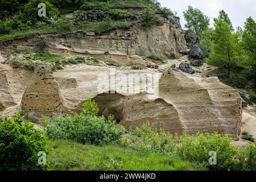
[[[218,16],[220,10],[228,13],[233,23],[233,27],[243,27],[243,22],[251,16],[256,20],[256,0],[159,0],[162,7],[168,7],[172,11],[176,11],[180,16],[181,26],[184,28],[183,11],[191,5],[198,8],[207,16],[210,16],[211,26],[213,18]]]

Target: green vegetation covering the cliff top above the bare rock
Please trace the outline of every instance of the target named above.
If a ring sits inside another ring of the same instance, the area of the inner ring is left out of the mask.
[[[39,17],[39,3],[46,4],[46,16]],[[18,6],[18,7],[13,7]],[[160,16],[174,15],[152,0],[31,0],[11,4],[0,2],[0,41],[32,34],[94,31],[97,34],[114,28],[129,28],[135,22],[152,27]]]

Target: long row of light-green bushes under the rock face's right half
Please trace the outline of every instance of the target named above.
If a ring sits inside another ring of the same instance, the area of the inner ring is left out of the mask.
[[[210,170],[249,170],[256,164],[256,143],[236,147],[232,139],[220,134],[197,133],[195,136],[183,134],[172,137],[163,130],[152,130],[149,123],[129,131],[121,144],[142,151],[153,151],[188,160]],[[216,152],[217,163],[210,165],[210,151]]]

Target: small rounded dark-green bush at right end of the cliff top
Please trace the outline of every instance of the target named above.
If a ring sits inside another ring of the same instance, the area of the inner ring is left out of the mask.
[[[158,15],[151,8],[146,8],[142,12],[141,24],[143,27],[153,27],[156,24],[161,23],[161,20]]]

